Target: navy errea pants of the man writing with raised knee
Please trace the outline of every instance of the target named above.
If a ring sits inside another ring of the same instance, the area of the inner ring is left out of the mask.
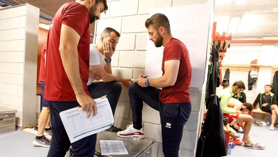
[[[133,83],[129,87],[129,99],[132,110],[132,121],[135,129],[142,128],[143,101],[159,111],[162,132],[162,147],[165,157],[178,157],[183,127],[187,122],[191,103],[162,104],[159,100],[161,89],[141,87]]]

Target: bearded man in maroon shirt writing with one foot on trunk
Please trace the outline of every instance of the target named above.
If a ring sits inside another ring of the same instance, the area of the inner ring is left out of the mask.
[[[140,75],[129,87],[129,99],[133,124],[117,133],[120,137],[144,138],[142,128],[143,101],[159,111],[162,131],[162,147],[165,157],[178,157],[183,127],[191,112],[189,86],[191,63],[185,45],[173,38],[168,18],[154,14],[147,19],[149,40],[156,47],[164,46],[162,76],[148,79]],[[146,67],[147,68],[147,67]],[[162,87],[161,89],[155,87]]]

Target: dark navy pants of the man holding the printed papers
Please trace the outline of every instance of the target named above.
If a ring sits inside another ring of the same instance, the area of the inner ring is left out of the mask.
[[[59,113],[70,108],[79,106],[77,101],[48,101],[50,105],[50,118],[52,123],[51,146],[47,157],[65,157],[70,145],[72,146],[73,157],[93,157],[97,134],[87,136],[76,142],[70,143]]]

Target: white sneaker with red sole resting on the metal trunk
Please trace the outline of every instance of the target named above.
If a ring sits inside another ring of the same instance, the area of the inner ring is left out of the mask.
[[[117,135],[119,137],[124,137],[124,138],[144,139],[143,128],[141,128],[140,130],[137,130],[137,129],[133,128],[133,124],[128,125],[124,131],[117,132]]]

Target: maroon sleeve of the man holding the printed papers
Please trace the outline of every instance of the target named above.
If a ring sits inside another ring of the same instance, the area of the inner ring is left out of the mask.
[[[89,12],[83,5],[72,5],[63,10],[62,24],[73,28],[80,36],[83,35],[89,25]]]

